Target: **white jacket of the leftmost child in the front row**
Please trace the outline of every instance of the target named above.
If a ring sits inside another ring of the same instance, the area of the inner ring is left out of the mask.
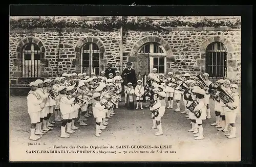
[[[42,100],[35,91],[30,90],[27,96],[28,113],[39,112],[42,110],[40,104]]]

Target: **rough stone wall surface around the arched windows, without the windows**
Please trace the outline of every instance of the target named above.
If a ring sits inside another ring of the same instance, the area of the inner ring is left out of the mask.
[[[129,17],[129,19],[133,18],[140,19]],[[120,66],[125,66],[126,61],[135,60],[131,57],[139,56],[137,52],[141,45],[146,42],[157,42],[165,47],[167,72],[190,73],[196,76],[198,73],[204,73],[205,50],[207,45],[214,41],[220,41],[227,47],[227,78],[240,83],[241,28],[227,27],[198,29],[185,27],[170,28],[163,32],[123,32],[123,64],[120,64],[120,32],[118,31],[95,32],[86,29],[65,29],[59,34],[54,30],[45,29],[11,30],[10,80],[11,84],[15,84],[16,80],[22,76],[21,49],[28,42],[38,44],[41,49],[41,77],[51,78],[64,72],[80,73],[80,48],[87,42],[94,42],[100,48],[100,70],[104,70],[108,63],[120,69]]]

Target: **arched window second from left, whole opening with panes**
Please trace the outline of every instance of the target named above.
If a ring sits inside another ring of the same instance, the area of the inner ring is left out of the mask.
[[[95,43],[86,43],[81,47],[81,73],[99,75],[99,47]]]

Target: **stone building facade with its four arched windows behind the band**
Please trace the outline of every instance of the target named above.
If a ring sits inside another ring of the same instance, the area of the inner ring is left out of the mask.
[[[104,19],[80,16],[56,17],[56,19],[63,18],[87,19],[89,22]],[[145,18],[128,17],[135,21]],[[149,19],[155,22],[172,19],[198,21],[205,17],[150,17]],[[122,70],[127,61],[133,62],[133,68],[141,74],[148,74],[156,66],[164,74],[173,71],[175,74],[189,73],[191,76],[196,76],[207,72],[211,73],[212,78],[224,77],[235,83],[241,82],[240,26],[236,28],[169,27],[165,30],[123,31],[121,34],[120,30],[105,32],[84,28],[65,28],[61,33],[54,29],[11,29],[10,84],[24,84],[25,81],[35,78],[52,78],[65,72],[99,73],[108,63]],[[31,43],[33,43],[32,47],[29,46]],[[32,52],[34,55],[29,56]],[[216,57],[218,60],[215,60]],[[94,64],[95,67],[89,66],[84,69],[85,63],[91,66]]]

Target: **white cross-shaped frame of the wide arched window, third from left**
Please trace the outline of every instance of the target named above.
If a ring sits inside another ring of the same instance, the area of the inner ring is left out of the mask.
[[[148,43],[145,45],[148,45]],[[144,53],[140,53],[140,52],[145,45],[141,46],[141,48],[138,52],[139,54],[144,54]],[[152,73],[153,68],[154,68],[153,67],[154,66],[154,58],[155,57],[157,57],[157,58],[164,57],[164,73],[159,73],[159,71],[157,71],[157,73],[165,75],[166,74],[166,52],[162,45],[159,45],[159,47],[162,49],[163,53],[154,53],[154,42],[152,42],[152,43],[150,43],[150,53],[145,53],[145,54],[148,54],[148,57],[150,58],[150,62],[149,62],[150,63],[150,73]]]

